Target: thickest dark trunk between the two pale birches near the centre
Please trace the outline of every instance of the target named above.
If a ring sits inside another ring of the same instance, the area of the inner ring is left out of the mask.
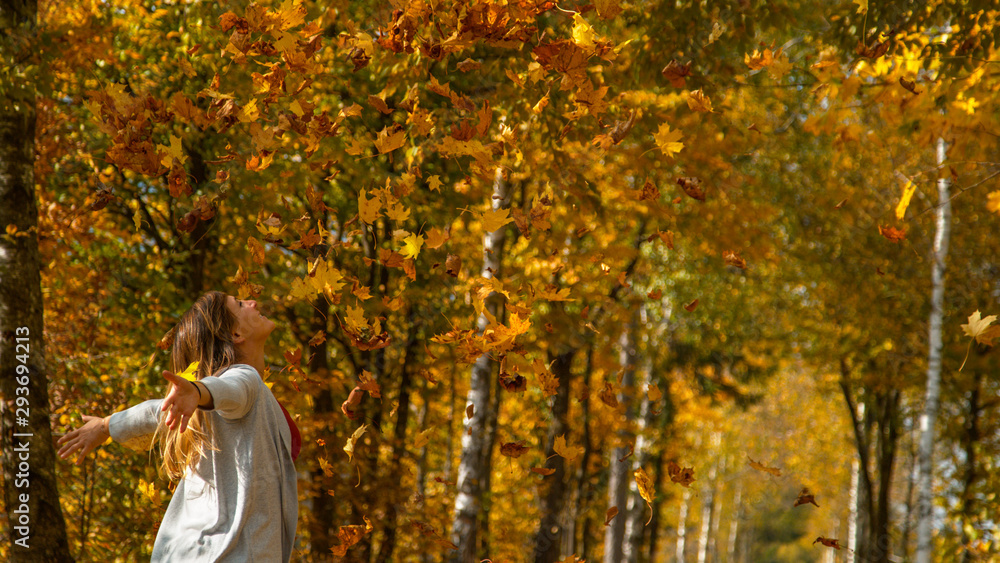
[[[563,509],[569,487],[566,482],[566,462],[562,456],[555,454],[553,447],[556,438],[566,434],[569,429],[566,415],[569,413],[569,383],[576,350],[573,348],[554,356],[549,354],[552,373],[559,378],[559,387],[552,400],[552,421],[546,438],[545,457],[550,458],[548,467],[556,472],[545,479],[548,489],[540,499],[539,524],[535,534],[535,563],[555,563],[560,560],[564,533]]]

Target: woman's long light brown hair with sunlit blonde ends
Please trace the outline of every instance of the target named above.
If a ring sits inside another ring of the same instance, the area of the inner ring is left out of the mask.
[[[180,373],[192,362],[198,362],[195,376],[202,379],[236,363],[236,347],[233,344],[236,317],[226,306],[227,299],[225,293],[210,291],[195,301],[181,317],[172,330],[170,360],[174,373]],[[200,409],[195,410],[188,422],[188,431],[183,434],[179,425],[172,430],[167,428],[164,419],[160,417],[156,428],[163,453],[162,467],[171,480],[177,481],[184,476],[187,468],[196,469],[205,450],[212,447],[211,432],[207,428],[208,418]]]

